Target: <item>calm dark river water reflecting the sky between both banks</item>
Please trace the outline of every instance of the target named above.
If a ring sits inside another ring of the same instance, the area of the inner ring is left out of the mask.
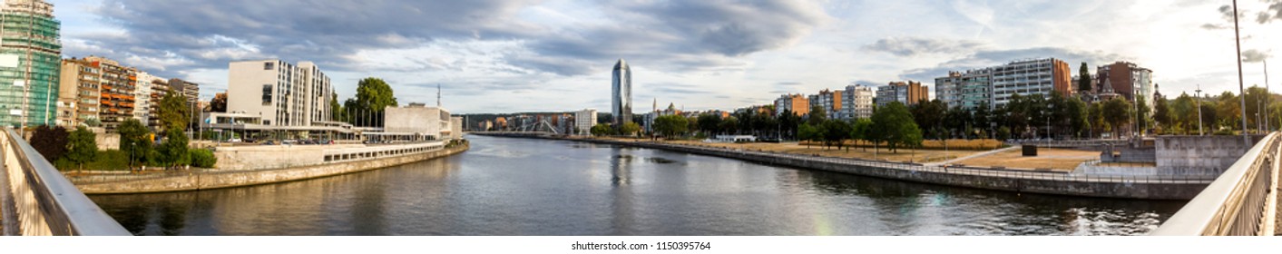
[[[90,196],[136,235],[1142,235],[1185,201],[910,183],[572,141],[277,185]]]

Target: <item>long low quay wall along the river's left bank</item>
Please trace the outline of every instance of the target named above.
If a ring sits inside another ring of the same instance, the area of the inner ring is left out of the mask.
[[[141,194],[141,192],[171,192],[171,191],[195,191],[195,190],[209,190],[209,189],[223,189],[223,187],[240,187],[240,186],[288,182],[288,181],[373,171],[392,165],[449,157],[458,153],[463,153],[468,149],[469,145],[462,144],[450,148],[444,148],[441,150],[408,154],[400,157],[372,158],[364,160],[313,164],[313,165],[279,168],[279,169],[222,171],[222,172],[213,171],[213,172],[191,173],[188,176],[174,176],[164,178],[87,183],[87,185],[78,185],[77,187],[85,194]]]

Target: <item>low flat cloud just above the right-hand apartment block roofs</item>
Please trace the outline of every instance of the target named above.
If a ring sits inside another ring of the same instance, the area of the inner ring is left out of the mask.
[[[1104,64],[1127,59],[1118,54],[1106,54],[1103,51],[1081,51],[1081,50],[1063,49],[1063,47],[981,50],[972,55],[967,55],[964,58],[958,58],[936,64],[935,67],[909,69],[899,74],[899,77],[903,80],[933,82],[935,78],[946,76],[949,71],[968,71],[968,69],[986,68],[986,67],[1006,64],[1013,60],[1035,59],[1035,58],[1056,58],[1067,62],[1069,64],[1069,69],[1073,69],[1072,67],[1076,67],[1077,63],[1082,62],[1087,64]]]

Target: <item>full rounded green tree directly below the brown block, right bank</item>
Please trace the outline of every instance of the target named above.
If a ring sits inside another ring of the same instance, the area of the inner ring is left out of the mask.
[[[903,145],[920,145],[922,130],[913,121],[913,114],[899,101],[891,101],[873,113],[873,136],[881,137],[891,153],[899,153]]]

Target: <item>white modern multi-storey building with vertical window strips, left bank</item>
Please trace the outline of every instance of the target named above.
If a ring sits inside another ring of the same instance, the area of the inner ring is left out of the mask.
[[[314,126],[329,122],[333,87],[312,62],[232,62],[227,77],[227,112],[262,117],[264,126]]]

